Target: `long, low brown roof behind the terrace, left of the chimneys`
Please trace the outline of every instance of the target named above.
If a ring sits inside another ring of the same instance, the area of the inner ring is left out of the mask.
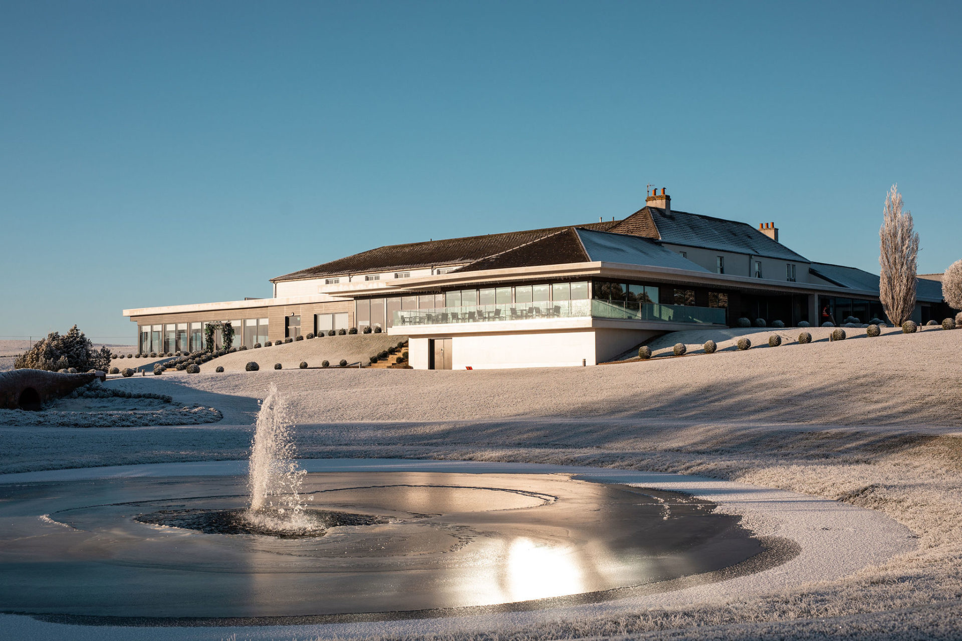
[[[618,223],[615,221],[590,223],[584,225],[591,229],[608,229]],[[395,269],[413,269],[432,265],[458,264],[484,259],[506,252],[544,236],[556,234],[567,227],[550,227],[526,232],[507,234],[487,234],[464,238],[447,238],[412,242],[403,245],[386,245],[367,252],[354,254],[343,259],[331,260],[323,264],[302,269],[271,279],[271,281],[294,281],[297,279],[382,272]]]

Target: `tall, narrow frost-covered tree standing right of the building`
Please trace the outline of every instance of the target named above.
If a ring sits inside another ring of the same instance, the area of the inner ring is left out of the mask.
[[[915,233],[912,212],[902,211],[899,185],[892,185],[885,196],[882,228],[878,231],[878,297],[894,325],[901,325],[915,309],[915,284],[919,259],[919,234]]]

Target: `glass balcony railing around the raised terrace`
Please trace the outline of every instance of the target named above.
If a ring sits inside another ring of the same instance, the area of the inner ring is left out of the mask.
[[[461,308],[401,309],[394,311],[394,327],[589,317],[664,323],[725,324],[725,310],[722,308],[580,300],[474,305]]]

